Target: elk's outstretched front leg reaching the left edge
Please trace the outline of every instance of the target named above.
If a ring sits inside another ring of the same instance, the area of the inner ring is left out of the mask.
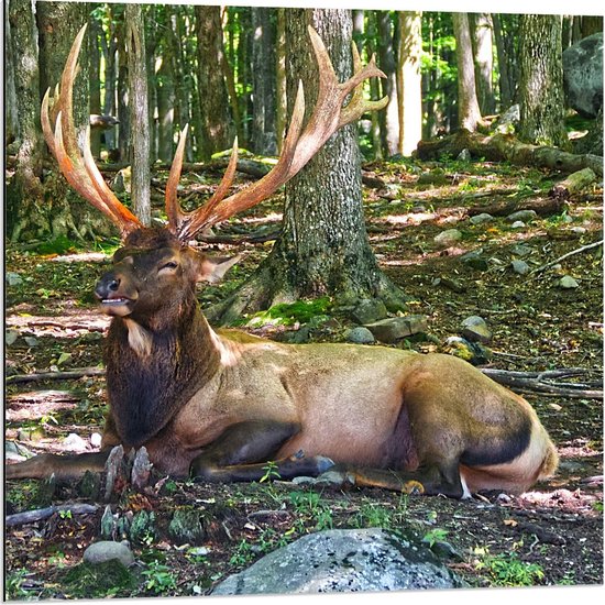
[[[86,471],[100,473],[111,448],[100,452],[85,452],[80,454],[57,455],[40,454],[4,466],[4,476],[11,479],[47,479],[53,473],[57,481],[80,479]]]

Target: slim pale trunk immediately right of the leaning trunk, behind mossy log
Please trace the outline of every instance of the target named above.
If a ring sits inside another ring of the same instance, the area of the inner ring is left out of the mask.
[[[471,23],[479,108],[483,116],[493,116],[496,112],[496,100],[492,81],[494,68],[492,16],[490,13],[472,14]]]

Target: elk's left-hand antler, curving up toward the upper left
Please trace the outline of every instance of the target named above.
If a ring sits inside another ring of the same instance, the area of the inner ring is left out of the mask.
[[[84,145],[84,158],[76,142],[76,130],[73,118],[73,88],[77,72],[78,55],[86,33],[86,25],[81,28],[65,63],[61,79],[61,92],[53,107],[56,112],[55,130],[51,127],[48,112],[50,89],[42,100],[41,123],[42,131],[48,147],[55,156],[59,169],[78,194],[87,199],[95,208],[109,217],[120,229],[122,237],[139,229],[141,222],[122,202],[103,180],[95,165],[90,153],[90,132],[87,128]]]

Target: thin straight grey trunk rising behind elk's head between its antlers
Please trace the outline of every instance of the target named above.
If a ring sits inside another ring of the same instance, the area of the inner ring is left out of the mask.
[[[131,130],[133,212],[151,224],[150,114],[145,57],[145,23],[141,4],[125,6],[125,32],[129,67],[129,111]]]

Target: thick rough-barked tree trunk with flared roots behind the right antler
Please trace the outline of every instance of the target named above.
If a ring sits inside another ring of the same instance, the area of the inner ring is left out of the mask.
[[[307,114],[318,91],[309,23],[323,40],[339,78],[352,72],[351,11],[288,9],[288,105],[292,111],[300,78]],[[403,308],[402,293],[381,272],[370,249],[354,124],[339,130],[286,185],[280,238],[252,278],[210,317],[232,321],[242,312],[323,295],[341,306],[354,305],[360,298],[382,298],[392,310]]]

